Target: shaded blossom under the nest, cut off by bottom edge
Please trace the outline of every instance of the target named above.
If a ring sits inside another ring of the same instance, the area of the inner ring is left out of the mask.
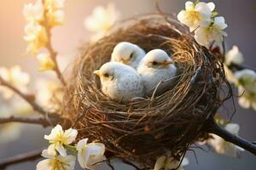
[[[175,160],[173,157],[170,156],[170,153],[167,156],[160,156],[154,164],[154,170],[171,170],[176,169],[179,165],[180,161]],[[184,157],[181,163],[181,166],[177,168],[177,170],[183,170],[183,167],[189,165],[189,159]]]

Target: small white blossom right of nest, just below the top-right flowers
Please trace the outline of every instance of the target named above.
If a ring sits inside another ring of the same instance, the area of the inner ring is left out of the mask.
[[[239,48],[237,46],[233,46],[230,51],[225,54],[225,64],[230,65],[231,63],[234,63],[236,65],[241,65],[243,62],[243,55],[239,51]]]

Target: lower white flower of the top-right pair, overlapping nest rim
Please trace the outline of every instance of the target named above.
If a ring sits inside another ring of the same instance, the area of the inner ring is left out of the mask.
[[[228,36],[226,32],[223,31],[226,27],[224,17],[216,17],[210,26],[201,26],[195,30],[195,41],[207,48],[212,42],[216,42],[219,45],[223,42],[223,37]]]

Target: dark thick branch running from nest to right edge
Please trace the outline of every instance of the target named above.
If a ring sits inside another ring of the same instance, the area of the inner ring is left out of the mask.
[[[236,144],[241,148],[251,152],[253,155],[256,156],[256,145],[251,142],[248,142],[246,139],[242,139],[239,136],[236,136],[228,131],[226,131],[223,127],[220,127],[218,123],[214,121],[213,118],[210,118],[209,122],[206,124],[207,132],[217,134],[219,137],[223,138],[224,140]]]

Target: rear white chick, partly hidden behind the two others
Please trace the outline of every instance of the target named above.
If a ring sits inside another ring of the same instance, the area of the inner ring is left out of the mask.
[[[145,56],[145,52],[142,48],[131,42],[119,42],[114,48],[111,54],[111,61],[116,61],[129,65],[136,69],[137,65]]]

